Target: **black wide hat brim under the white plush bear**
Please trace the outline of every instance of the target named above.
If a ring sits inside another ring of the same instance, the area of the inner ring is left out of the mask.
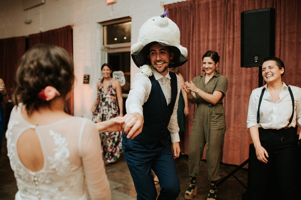
[[[145,45],[140,52],[132,53],[132,59],[137,67],[141,67],[144,64],[151,65],[151,60],[147,58],[147,55],[149,55],[150,47],[156,43],[159,43],[162,46],[168,46],[169,50],[174,53],[174,57],[169,61],[170,63],[168,65],[168,68],[179,67],[188,61],[188,59],[181,54],[178,47],[154,41]]]

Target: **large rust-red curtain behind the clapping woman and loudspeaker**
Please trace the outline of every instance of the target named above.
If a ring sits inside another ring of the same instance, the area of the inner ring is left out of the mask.
[[[251,91],[258,87],[258,67],[240,67],[240,13],[245,10],[276,9],[276,57],[285,64],[283,81],[301,86],[301,2],[299,0],[191,0],[164,6],[181,31],[181,44],[188,49],[188,62],[179,71],[192,80],[201,71],[202,55],[207,50],[220,55],[220,73],[228,78],[224,98],[226,134],[222,162],[240,165],[249,157],[252,143],[247,130],[247,111]],[[188,154],[189,136],[195,105],[189,104],[185,118],[181,151]],[[203,156],[203,158],[205,158]]]

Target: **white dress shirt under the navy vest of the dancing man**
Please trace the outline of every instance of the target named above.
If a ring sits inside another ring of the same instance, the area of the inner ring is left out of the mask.
[[[161,79],[163,76],[158,73],[152,67],[153,76],[156,80],[158,80],[160,86],[162,87]],[[179,95],[181,91],[180,78],[177,76],[177,84],[178,84],[178,94],[175,100],[175,106],[173,108],[173,112],[168,124],[168,130],[170,132],[170,137],[172,142],[180,142],[179,137],[179,126],[178,126],[178,118],[177,118],[177,110],[178,110],[178,101]],[[169,71],[166,76],[166,87],[167,87],[167,96],[164,94],[167,105],[171,101],[171,84],[170,84],[170,76]],[[148,97],[151,93],[151,80],[145,76],[143,73],[136,73],[132,83],[132,89],[129,91],[128,98],[126,99],[126,112],[134,113],[138,112],[143,115],[143,104],[148,100]]]

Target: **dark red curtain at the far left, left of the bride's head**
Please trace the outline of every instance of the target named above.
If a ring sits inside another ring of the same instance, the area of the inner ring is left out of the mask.
[[[24,36],[0,39],[0,78],[5,83],[10,99],[15,88],[15,75],[18,64],[24,52]]]

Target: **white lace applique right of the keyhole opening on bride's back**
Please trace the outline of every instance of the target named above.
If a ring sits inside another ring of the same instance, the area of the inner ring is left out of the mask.
[[[51,163],[49,169],[55,169],[57,175],[59,176],[63,176],[66,175],[66,173],[72,172],[74,170],[72,169],[74,165],[70,165],[68,160],[70,152],[67,148],[68,142],[66,142],[66,138],[62,138],[61,134],[54,133],[52,130],[49,130],[49,135],[52,136],[54,145],[57,147],[53,149],[53,151],[56,152],[54,154],[54,158],[48,157],[48,160]]]

